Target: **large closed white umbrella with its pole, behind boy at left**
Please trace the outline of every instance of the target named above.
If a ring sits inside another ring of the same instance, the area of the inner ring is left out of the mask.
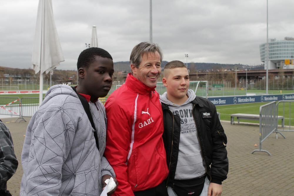
[[[32,68],[40,72],[39,104],[43,101],[43,73],[49,73],[64,61],[56,26],[53,18],[51,0],[39,0]]]

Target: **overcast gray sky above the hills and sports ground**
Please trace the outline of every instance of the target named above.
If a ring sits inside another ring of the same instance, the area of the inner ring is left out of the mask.
[[[0,1],[0,66],[30,68],[38,0]],[[97,26],[98,47],[114,62],[129,61],[132,48],[149,41],[149,0],[52,0],[65,62],[78,55]],[[153,0],[153,42],[163,60],[261,64],[266,42],[266,0]],[[294,1],[268,0],[269,38],[294,37]]]

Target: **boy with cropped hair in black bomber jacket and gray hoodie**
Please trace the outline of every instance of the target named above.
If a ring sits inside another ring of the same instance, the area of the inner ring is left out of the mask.
[[[221,184],[228,174],[227,137],[216,107],[189,89],[189,73],[183,62],[166,64],[162,82],[166,87],[160,100],[168,194],[221,195]]]

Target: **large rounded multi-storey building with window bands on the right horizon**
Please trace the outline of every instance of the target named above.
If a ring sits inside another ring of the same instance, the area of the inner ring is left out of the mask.
[[[266,69],[267,47],[266,43],[259,45],[260,60]],[[268,40],[268,69],[294,69],[294,38],[285,37],[284,40]]]

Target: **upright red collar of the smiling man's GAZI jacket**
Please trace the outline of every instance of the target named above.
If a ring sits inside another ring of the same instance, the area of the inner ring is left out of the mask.
[[[156,86],[153,88],[146,86],[140,80],[135,78],[131,73],[128,73],[127,75],[126,85],[139,94],[150,94],[150,92],[155,91],[156,88]]]

